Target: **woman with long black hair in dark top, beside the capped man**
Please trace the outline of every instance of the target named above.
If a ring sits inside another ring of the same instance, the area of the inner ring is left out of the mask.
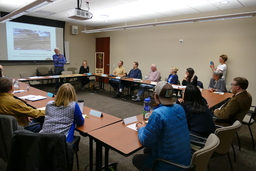
[[[178,99],[177,104],[180,104],[186,112],[190,133],[207,138],[215,131],[215,124],[207,102],[196,86],[188,85],[183,99]]]

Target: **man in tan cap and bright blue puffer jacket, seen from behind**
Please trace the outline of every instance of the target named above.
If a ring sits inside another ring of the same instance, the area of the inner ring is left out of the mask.
[[[191,160],[190,135],[184,109],[173,103],[173,88],[166,81],[155,87],[154,99],[157,108],[148,123],[137,122],[138,137],[145,147],[144,154],[133,157],[138,170],[150,170],[157,158],[163,158],[182,165]],[[160,162],[156,170],[176,170],[176,167]]]

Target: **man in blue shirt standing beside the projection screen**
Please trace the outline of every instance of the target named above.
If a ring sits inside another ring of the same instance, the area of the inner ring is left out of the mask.
[[[61,72],[64,71],[64,64],[67,62],[64,55],[60,54],[59,48],[54,49],[55,54],[52,56],[54,62],[54,75],[61,75]],[[55,91],[58,91],[58,88],[63,83],[63,78],[55,79]]]

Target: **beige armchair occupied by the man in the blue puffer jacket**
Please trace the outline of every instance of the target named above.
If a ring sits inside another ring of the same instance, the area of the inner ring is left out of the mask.
[[[154,162],[153,171],[156,169],[156,166],[159,162],[164,162],[184,170],[206,171],[208,162],[213,152],[218,147],[219,143],[220,143],[219,138],[214,134],[210,134],[209,137],[207,138],[205,146],[202,149],[196,151],[192,155],[192,159],[189,166],[184,166],[181,164],[173,163],[171,161],[158,158]]]

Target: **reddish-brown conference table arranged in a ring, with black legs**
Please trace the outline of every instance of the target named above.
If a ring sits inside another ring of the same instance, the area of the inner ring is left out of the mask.
[[[81,76],[81,75],[76,75]],[[96,74],[93,76],[97,76]],[[108,77],[98,75],[99,77]],[[64,76],[66,77],[66,76]],[[74,77],[73,74],[67,77]],[[136,83],[152,84],[149,80],[132,80],[124,78],[123,80],[133,81]],[[104,83],[103,83],[104,84]],[[27,84],[20,83],[20,89],[25,90]],[[182,88],[181,88],[182,89]],[[183,88],[184,89],[184,88]],[[209,108],[213,108],[216,105],[223,103],[228,98],[232,97],[231,93],[215,94],[209,92],[208,90],[202,90],[203,97],[207,100]],[[47,96],[47,92],[31,87],[27,92],[16,93],[16,97],[21,97],[29,94]],[[26,101],[26,103],[34,108],[45,107],[47,102],[53,100],[53,97],[47,97],[46,99],[40,101]],[[108,166],[109,150],[114,151],[124,155],[129,156],[134,152],[140,150],[142,147],[138,139],[138,133],[131,128],[128,128],[122,122],[121,118],[103,113],[103,117],[96,117],[90,115],[91,108],[84,106],[83,114],[89,116],[85,119],[85,124],[83,126],[77,127],[76,130],[82,136],[89,136],[90,138],[90,170],[93,170],[93,141],[96,142],[96,170],[102,169],[102,148],[105,147],[105,166]],[[142,114],[137,116],[138,120],[142,120]],[[105,167],[108,170],[108,167]]]

